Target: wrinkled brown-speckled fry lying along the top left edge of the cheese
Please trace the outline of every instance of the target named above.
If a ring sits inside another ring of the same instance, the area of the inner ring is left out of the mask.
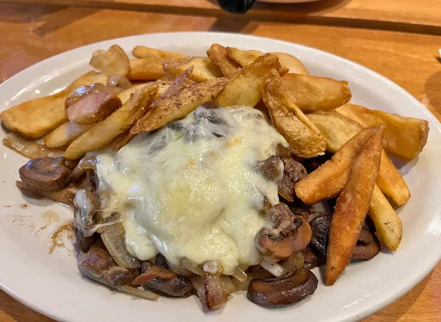
[[[169,122],[183,118],[196,107],[213,100],[227,83],[227,78],[217,78],[185,87],[181,92],[160,100],[130,129],[130,134],[152,131]]]

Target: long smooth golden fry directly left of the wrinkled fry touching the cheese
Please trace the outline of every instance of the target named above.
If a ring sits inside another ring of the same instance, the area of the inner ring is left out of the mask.
[[[69,160],[81,158],[86,152],[103,147],[129,129],[145,114],[157,91],[158,85],[147,86],[136,91],[120,109],[74,140],[65,151],[65,158]]]

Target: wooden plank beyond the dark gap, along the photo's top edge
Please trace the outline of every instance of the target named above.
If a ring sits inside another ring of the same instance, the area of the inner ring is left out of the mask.
[[[216,0],[1,0],[52,3],[85,8],[233,17]],[[314,23],[357,28],[441,34],[440,0],[321,0],[311,3],[262,3],[234,19]]]

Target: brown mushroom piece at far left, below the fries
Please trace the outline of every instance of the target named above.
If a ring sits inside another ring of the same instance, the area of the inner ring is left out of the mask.
[[[19,169],[21,181],[42,191],[58,191],[68,186],[72,170],[64,165],[65,159],[37,158]]]

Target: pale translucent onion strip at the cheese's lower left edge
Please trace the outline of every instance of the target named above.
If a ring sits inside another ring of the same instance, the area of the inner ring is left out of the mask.
[[[101,233],[101,239],[105,244],[105,248],[112,255],[114,261],[123,268],[139,268],[139,259],[130,255],[125,248],[125,229],[122,222],[107,227]]]

